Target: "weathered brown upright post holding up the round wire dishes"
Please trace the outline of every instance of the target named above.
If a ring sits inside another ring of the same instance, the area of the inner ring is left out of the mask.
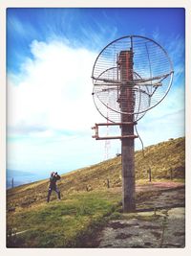
[[[120,87],[119,104],[121,112],[132,113],[134,109],[133,92],[133,52],[121,51],[119,54]],[[134,115],[121,114],[121,135],[134,135]],[[134,138],[121,139],[122,154],[122,206],[123,212],[136,211],[136,184],[135,184],[135,145]]]

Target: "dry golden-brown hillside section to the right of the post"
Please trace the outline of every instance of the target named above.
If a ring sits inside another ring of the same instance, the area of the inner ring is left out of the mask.
[[[147,175],[151,168],[155,178],[167,178],[170,170],[175,178],[185,175],[185,138],[170,139],[145,149],[145,157],[141,151],[136,152],[137,178]]]

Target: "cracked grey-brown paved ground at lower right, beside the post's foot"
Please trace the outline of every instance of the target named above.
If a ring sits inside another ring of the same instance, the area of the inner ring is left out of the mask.
[[[98,234],[98,247],[184,247],[184,186],[158,182],[137,191],[158,191],[137,202],[137,213],[121,214]]]

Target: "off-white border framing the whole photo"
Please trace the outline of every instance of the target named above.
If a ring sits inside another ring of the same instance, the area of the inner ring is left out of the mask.
[[[6,247],[6,10],[7,8],[184,8],[185,9],[185,137],[186,137],[186,246],[185,248],[119,248],[119,249],[91,249],[91,248],[7,248]],[[190,41],[190,25],[191,24],[191,2],[189,0],[1,0],[0,1],[0,252],[2,255],[33,255],[40,253],[41,255],[84,255],[91,253],[92,255],[187,255],[191,253],[191,173],[189,172],[189,159],[191,159],[190,141],[191,141],[191,107],[189,101],[191,99],[191,41]]]

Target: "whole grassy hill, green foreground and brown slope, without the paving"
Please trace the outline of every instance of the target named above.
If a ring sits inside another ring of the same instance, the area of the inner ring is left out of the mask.
[[[153,179],[184,178],[184,138],[136,151],[136,177]],[[121,200],[121,157],[62,175],[58,186],[61,201],[46,203],[49,180],[41,180],[7,191],[8,246],[70,247],[79,246],[112,213]],[[117,212],[116,212],[117,214]]]

